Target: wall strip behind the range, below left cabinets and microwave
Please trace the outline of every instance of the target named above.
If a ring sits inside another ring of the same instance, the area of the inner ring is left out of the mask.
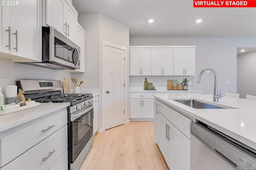
[[[0,53],[0,55],[2,55]],[[15,85],[17,79],[38,79],[38,80],[64,80],[67,77],[71,80],[71,73],[67,70],[51,70],[20,63],[12,63],[7,59],[0,59],[0,86],[5,95],[4,86]]]

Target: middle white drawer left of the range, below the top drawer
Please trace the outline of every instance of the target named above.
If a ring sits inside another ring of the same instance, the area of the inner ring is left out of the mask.
[[[66,125],[0,170],[48,170],[67,149],[68,127]],[[51,155],[50,152],[52,152]]]

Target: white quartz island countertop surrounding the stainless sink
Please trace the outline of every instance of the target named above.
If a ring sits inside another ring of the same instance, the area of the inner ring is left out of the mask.
[[[160,102],[187,117],[193,117],[256,150],[256,100],[224,96],[218,103],[212,95],[153,95]],[[206,103],[235,107],[234,109],[194,109],[172,99],[195,99]]]

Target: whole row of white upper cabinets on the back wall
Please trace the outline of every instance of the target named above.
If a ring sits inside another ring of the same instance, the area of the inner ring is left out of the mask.
[[[195,48],[196,46],[130,46],[130,76],[195,75]]]

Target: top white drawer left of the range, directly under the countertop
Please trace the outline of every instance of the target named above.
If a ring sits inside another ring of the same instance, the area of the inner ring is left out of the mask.
[[[51,117],[2,137],[0,139],[0,167],[4,166],[66,124],[67,111],[61,111]],[[45,130],[45,132],[43,132],[43,130]]]

